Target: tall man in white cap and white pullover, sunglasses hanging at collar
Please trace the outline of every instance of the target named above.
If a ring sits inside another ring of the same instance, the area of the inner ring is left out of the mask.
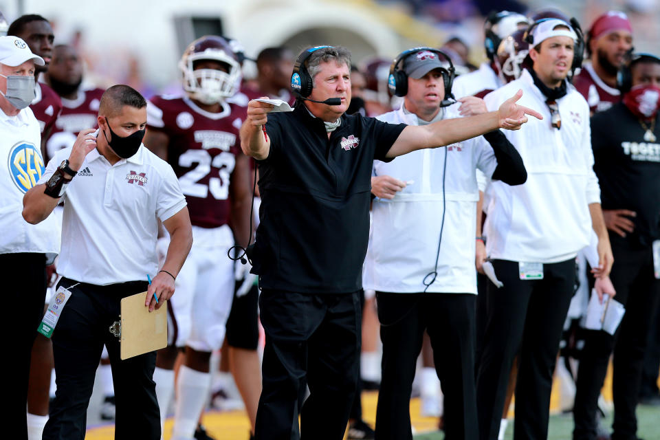
[[[545,439],[552,372],[575,281],[575,256],[598,236],[597,254],[606,276],[612,264],[593,173],[588,105],[569,87],[577,35],[559,19],[531,25],[533,65],[485,97],[496,108],[522,88],[528,106],[545,119],[507,132],[527,168],[527,181],[493,181],[484,232],[499,289],[489,283],[487,320],[477,373],[479,436],[496,439],[511,362],[518,353],[516,438]]]

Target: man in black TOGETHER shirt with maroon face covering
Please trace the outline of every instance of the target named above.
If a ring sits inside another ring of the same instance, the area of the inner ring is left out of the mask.
[[[633,227],[609,231],[615,263],[610,278],[626,307],[615,336],[586,330],[577,371],[575,440],[595,440],[597,399],[614,350],[614,433],[636,439],[635,408],[648,329],[660,300],[653,243],[660,239],[660,58],[635,54],[619,73],[623,101],[591,118],[594,170],[603,209],[636,212]]]

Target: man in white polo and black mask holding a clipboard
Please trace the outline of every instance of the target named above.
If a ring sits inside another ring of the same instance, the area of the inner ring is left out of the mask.
[[[43,439],[85,436],[87,404],[105,345],[115,378],[115,436],[157,440],[156,353],[120,360],[119,340],[108,328],[118,318],[121,298],[148,288],[145,307],[153,311],[172,296],[192,244],[190,218],[172,168],[142,145],[142,95],[115,85],[103,94],[98,112],[98,136],[94,129],[81,131],[23,199],[23,217],[30,223],[43,221],[65,199],[59,285],[72,296],[53,333],[57,391]],[[77,176],[83,167],[89,173]],[[160,272],[156,219],[171,236]],[[146,274],[155,274],[149,286]]]

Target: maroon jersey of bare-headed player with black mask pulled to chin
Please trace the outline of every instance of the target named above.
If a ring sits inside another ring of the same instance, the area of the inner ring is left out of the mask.
[[[98,128],[96,117],[103,92],[103,89],[79,90],[74,100],[62,98],[62,111],[46,142],[45,163],[57,151],[72,146],[80,131]]]

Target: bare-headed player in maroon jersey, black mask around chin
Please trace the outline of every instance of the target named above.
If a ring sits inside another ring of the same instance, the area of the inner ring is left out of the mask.
[[[45,80],[62,98],[62,111],[46,142],[46,160],[56,151],[72,146],[81,130],[97,127],[96,113],[103,89],[81,87],[83,70],[83,59],[74,47],[56,45],[53,48]]]

